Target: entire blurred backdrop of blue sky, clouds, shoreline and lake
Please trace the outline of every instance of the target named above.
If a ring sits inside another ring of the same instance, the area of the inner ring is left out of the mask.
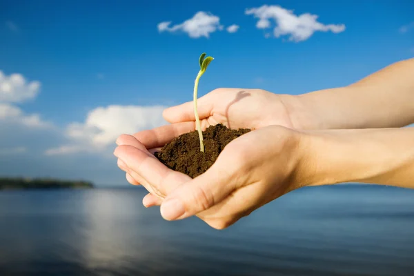
[[[199,97],[346,86],[414,57],[413,10],[0,0],[0,275],[413,275],[413,190],[302,188],[218,231],[144,208],[112,155],[120,134],[192,100],[201,52],[215,61]]]

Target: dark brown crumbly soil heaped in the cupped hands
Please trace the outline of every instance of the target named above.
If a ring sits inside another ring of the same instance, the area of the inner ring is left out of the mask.
[[[249,131],[247,128],[230,130],[223,124],[209,126],[203,131],[204,152],[200,150],[199,135],[195,130],[170,141],[160,152],[155,152],[155,157],[168,168],[194,178],[213,165],[230,141]]]

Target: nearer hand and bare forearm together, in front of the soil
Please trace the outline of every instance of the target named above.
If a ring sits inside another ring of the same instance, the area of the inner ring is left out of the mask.
[[[135,137],[120,140],[115,155],[121,168],[159,196],[152,205],[161,204],[164,219],[197,215],[217,229],[304,186],[359,182],[414,188],[414,128],[266,126],[231,141],[195,179],[161,164]]]

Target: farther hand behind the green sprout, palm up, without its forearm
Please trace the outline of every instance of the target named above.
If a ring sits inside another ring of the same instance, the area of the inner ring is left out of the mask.
[[[290,95],[276,95],[259,89],[219,88],[197,99],[201,129],[224,124],[228,128],[262,128],[270,125],[293,128],[284,101]],[[153,152],[181,134],[195,130],[193,101],[167,108],[169,125],[137,132],[134,136]]]

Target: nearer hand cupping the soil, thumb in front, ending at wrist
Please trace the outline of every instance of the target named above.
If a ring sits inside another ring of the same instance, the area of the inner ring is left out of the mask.
[[[161,204],[164,219],[197,215],[223,229],[304,185],[308,175],[304,137],[282,126],[248,132],[231,141],[213,166],[195,179],[161,164],[130,135],[119,137],[115,155],[129,175],[158,195],[147,195],[144,204]]]

